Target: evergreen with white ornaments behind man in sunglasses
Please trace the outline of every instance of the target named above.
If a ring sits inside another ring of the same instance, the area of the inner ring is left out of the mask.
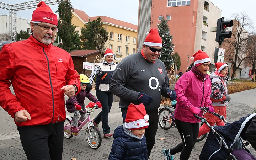
[[[164,64],[167,70],[171,69],[174,64],[171,54],[173,53],[174,44],[172,44],[172,35],[170,35],[170,28],[164,18],[158,23],[158,32],[162,38],[162,51],[158,57]]]

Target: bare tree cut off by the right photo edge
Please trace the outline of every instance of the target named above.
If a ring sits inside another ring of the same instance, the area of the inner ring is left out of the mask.
[[[247,47],[247,62],[252,64],[252,74],[255,73],[256,69],[256,34],[252,33],[248,39]]]

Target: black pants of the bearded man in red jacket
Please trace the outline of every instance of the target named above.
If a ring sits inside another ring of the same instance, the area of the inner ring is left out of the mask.
[[[61,160],[63,122],[18,127],[21,144],[28,160]]]

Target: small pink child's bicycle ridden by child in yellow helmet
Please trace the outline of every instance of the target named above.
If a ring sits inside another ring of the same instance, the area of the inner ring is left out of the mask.
[[[80,124],[80,126],[78,126],[78,130],[81,131],[82,127],[87,123],[87,128],[85,130],[85,137],[86,137],[86,142],[88,143],[88,145],[93,148],[93,149],[97,149],[100,147],[101,145],[101,134],[100,131],[98,130],[97,127],[94,126],[94,124],[91,121],[91,115],[90,113],[93,113],[94,111],[92,109],[98,109],[98,105],[94,105],[93,108],[85,108],[86,113],[88,115],[88,117],[84,120],[84,122],[81,122],[78,120],[78,124]],[[72,121],[73,121],[73,116],[69,117],[66,116],[65,122],[64,122],[64,137],[65,138],[72,138],[73,135],[78,135],[79,133],[72,133],[70,131],[71,127],[72,127]]]

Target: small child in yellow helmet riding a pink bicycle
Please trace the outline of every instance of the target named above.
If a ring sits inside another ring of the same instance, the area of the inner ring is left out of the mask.
[[[74,117],[73,117],[73,122],[72,122],[72,126],[71,127],[71,132],[72,133],[78,133],[78,126],[80,124],[78,124],[78,118],[79,118],[79,114],[81,115],[79,121],[84,121],[86,118],[86,111],[85,110],[85,105],[84,105],[84,100],[85,97],[87,97],[90,101],[96,103],[96,105],[98,105],[99,108],[101,108],[101,103],[100,101],[97,100],[97,98],[92,95],[90,92],[86,92],[86,86],[89,83],[89,78],[84,75],[84,74],[80,74],[80,82],[81,82],[81,91],[73,96],[73,97],[69,97],[68,100],[66,100],[66,107],[68,112],[70,113],[74,113]]]

